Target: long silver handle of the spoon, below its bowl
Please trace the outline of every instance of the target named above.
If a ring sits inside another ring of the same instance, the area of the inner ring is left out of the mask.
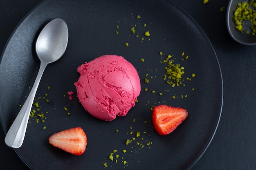
[[[4,139],[5,144],[7,144],[7,146],[11,148],[20,148],[20,146],[24,141],[31,107],[36,95],[36,91],[37,91],[40,79],[43,75],[43,72],[45,71],[45,67],[47,66],[47,64],[48,63],[41,61],[40,68],[36,76],[34,85],[31,89],[31,92],[29,93],[29,96],[27,97],[26,102],[22,106],[16,119],[13,121],[13,124],[11,125],[11,128],[8,130],[5,136],[5,139]]]

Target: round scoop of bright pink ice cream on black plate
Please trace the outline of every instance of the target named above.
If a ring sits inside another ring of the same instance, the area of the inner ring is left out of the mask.
[[[139,75],[130,62],[103,55],[77,68],[77,97],[85,110],[102,120],[125,116],[140,93]]]

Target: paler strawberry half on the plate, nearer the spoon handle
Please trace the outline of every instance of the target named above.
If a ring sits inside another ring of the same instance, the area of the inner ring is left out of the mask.
[[[73,155],[81,155],[87,145],[87,137],[82,128],[71,128],[54,133],[49,137],[49,143]]]

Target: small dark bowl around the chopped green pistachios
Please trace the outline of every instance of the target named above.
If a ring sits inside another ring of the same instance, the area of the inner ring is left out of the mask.
[[[233,14],[234,14],[234,11],[236,10],[237,4],[239,2],[248,2],[248,0],[247,1],[245,1],[245,0],[230,0],[229,1],[229,5],[228,5],[228,9],[227,9],[227,28],[228,28],[229,34],[235,41],[239,42],[240,44],[256,45],[256,35],[241,33],[240,31],[238,31],[236,29],[236,24],[233,21]],[[247,23],[245,23],[244,27],[249,28],[249,26],[250,25],[247,22]]]

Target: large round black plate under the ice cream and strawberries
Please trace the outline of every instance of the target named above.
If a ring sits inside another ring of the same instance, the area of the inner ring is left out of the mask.
[[[141,18],[137,18],[138,15]],[[36,38],[43,26],[54,18],[62,18],[69,28],[67,51],[60,60],[47,66],[42,77],[36,99],[40,106],[37,113],[44,113],[45,122],[40,117],[29,119],[25,141],[16,149],[21,159],[32,170],[104,169],[103,163],[108,165],[105,169],[189,169],[206,150],[218,126],[222,76],[216,54],[202,29],[168,0],[47,0],[36,7],[13,32],[2,53],[0,121],[4,132],[11,126],[19,105],[25,102],[34,83],[39,68]],[[135,34],[130,31],[132,27]],[[146,31],[150,31],[149,37],[144,36]],[[79,78],[76,68],[105,54],[122,55],[135,66],[141,78],[141,94],[136,106],[126,117],[110,122],[86,113],[76,98],[74,86]],[[172,88],[163,80],[166,64],[160,62],[167,55],[173,55],[175,63],[184,66],[186,86]],[[182,61],[186,55],[188,60]],[[144,83],[147,73],[149,83]],[[192,73],[196,76],[186,80]],[[151,93],[152,90],[156,93]],[[68,99],[68,91],[75,92],[73,100]],[[49,103],[43,99],[45,93]],[[183,107],[189,113],[189,117],[166,136],[158,135],[152,126],[150,108],[159,104]],[[88,137],[83,155],[74,156],[48,144],[52,133],[78,126]],[[132,139],[137,131],[141,136],[126,146],[126,139]],[[148,146],[148,142],[152,144]],[[120,155],[117,163],[108,160],[112,150]],[[126,165],[121,157],[128,162]]]

